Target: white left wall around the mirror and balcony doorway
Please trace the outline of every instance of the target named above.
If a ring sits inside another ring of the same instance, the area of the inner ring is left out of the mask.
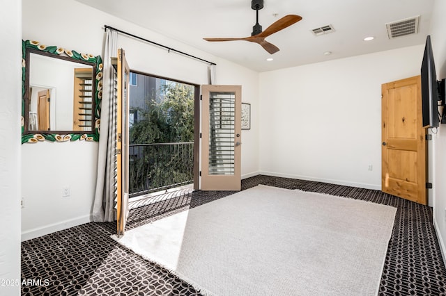
[[[46,45],[97,56],[102,51],[104,25],[108,25],[210,60],[217,64],[217,83],[243,85],[243,101],[252,104],[253,120],[258,118],[259,74],[252,70],[74,0],[66,0],[63,5],[54,5],[51,0],[23,0],[22,7],[24,40],[38,40]],[[118,35],[118,47],[125,49],[125,56],[133,70],[189,83],[208,83],[206,63],[169,53],[166,49],[121,34]],[[259,126],[254,122],[252,126],[252,130],[242,133],[244,176],[258,171]],[[22,210],[22,239],[90,220],[97,154],[96,142],[38,142],[22,145],[22,190],[25,204]],[[70,186],[71,189],[71,196],[68,198],[61,197],[65,186]]]

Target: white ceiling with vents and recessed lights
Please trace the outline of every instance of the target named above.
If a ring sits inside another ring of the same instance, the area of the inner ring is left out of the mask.
[[[256,12],[250,0],[77,1],[258,72],[424,44],[433,8],[433,0],[264,0],[259,10],[263,30],[284,15],[302,17],[266,38],[280,49],[270,55],[252,42],[203,40],[251,35]],[[386,23],[417,15],[419,33],[387,37]],[[317,37],[312,33],[313,28],[328,24],[334,33]],[[366,42],[367,36],[375,39]],[[332,54],[324,55],[326,51]],[[274,60],[266,61],[270,57]]]

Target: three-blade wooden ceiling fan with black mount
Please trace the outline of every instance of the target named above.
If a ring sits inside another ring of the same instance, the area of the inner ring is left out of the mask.
[[[252,0],[251,8],[256,10],[256,24],[252,27],[251,36],[245,38],[203,38],[203,39],[206,41],[245,40],[249,42],[256,42],[260,44],[261,47],[263,47],[263,49],[268,51],[268,53],[275,54],[277,51],[279,51],[279,48],[276,47],[274,44],[271,44],[270,42],[266,41],[265,38],[267,38],[269,35],[272,35],[273,33],[279,32],[284,28],[291,26],[292,24],[299,22],[302,19],[302,17],[300,17],[299,15],[286,15],[281,19],[277,20],[277,22],[274,22],[272,25],[268,26],[268,28],[266,28],[265,31],[262,31],[262,26],[259,24],[259,10],[263,8],[263,0]]]

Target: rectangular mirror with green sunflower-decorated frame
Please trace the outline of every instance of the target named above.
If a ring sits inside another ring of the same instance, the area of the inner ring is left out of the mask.
[[[22,41],[22,143],[98,141],[102,59]]]

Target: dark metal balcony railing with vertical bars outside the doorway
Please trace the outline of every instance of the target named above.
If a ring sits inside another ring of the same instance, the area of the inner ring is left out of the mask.
[[[194,142],[129,146],[130,197],[193,183]]]

